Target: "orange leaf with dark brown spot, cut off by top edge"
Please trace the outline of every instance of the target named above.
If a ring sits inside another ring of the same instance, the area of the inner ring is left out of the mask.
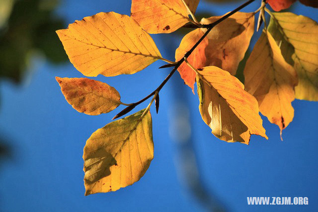
[[[191,21],[182,0],[132,0],[131,17],[154,34],[174,32]]]

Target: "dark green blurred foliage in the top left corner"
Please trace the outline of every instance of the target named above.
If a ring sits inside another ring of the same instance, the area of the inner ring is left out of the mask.
[[[0,26],[0,78],[21,82],[33,52],[44,54],[54,64],[68,61],[55,33],[64,27],[63,19],[53,12],[57,3],[56,0],[14,2],[7,22]]]

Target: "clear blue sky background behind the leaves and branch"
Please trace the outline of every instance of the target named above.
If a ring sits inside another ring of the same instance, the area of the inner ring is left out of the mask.
[[[222,15],[237,5],[202,2],[198,11]],[[257,7],[258,3],[253,3],[245,11]],[[318,20],[315,9],[297,3],[293,10]],[[71,23],[100,11],[130,14],[130,1],[65,0],[57,15]],[[175,49],[180,40],[169,35],[153,37],[162,55],[173,60],[174,52],[167,50]],[[156,62],[133,76],[100,76],[97,80],[115,87],[123,102],[135,102],[165,78],[168,70],[157,69],[162,64]],[[99,116],[77,112],[67,104],[55,81],[55,76],[82,77],[73,65],[52,66],[40,60],[34,65],[32,78],[23,86],[0,84],[0,133],[13,151],[11,159],[0,164],[0,211],[204,211],[184,183],[182,173],[193,171],[191,164],[183,163],[192,157],[191,152],[180,150],[186,139],[192,139],[206,189],[231,211],[318,211],[318,103],[292,103],[295,117],[283,131],[284,141],[279,128],[263,117],[268,141],[253,135],[249,146],[226,143],[211,134],[199,114],[197,96],[176,73],[160,93],[159,114],[152,108],[155,158],[145,176],[116,192],[84,197],[85,141],[118,110]],[[175,114],[181,124],[173,121]],[[175,137],[175,131],[188,137]],[[252,196],[308,197],[309,205],[247,206],[246,197]]]

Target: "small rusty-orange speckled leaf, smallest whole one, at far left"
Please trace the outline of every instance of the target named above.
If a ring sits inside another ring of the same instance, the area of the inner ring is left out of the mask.
[[[88,115],[99,115],[118,107],[120,95],[106,83],[87,78],[60,78],[56,81],[66,101],[79,112]]]

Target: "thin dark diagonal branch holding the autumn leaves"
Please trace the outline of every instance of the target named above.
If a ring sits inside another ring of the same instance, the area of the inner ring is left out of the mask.
[[[128,113],[130,110],[132,110],[135,106],[140,105],[141,103],[145,102],[146,100],[148,100],[150,97],[154,96],[156,93],[159,93],[160,90],[162,89],[162,87],[169,81],[169,79],[172,77],[172,75],[174,74],[174,72],[179,68],[179,66],[184,62],[184,59],[188,58],[191,53],[194,51],[194,49],[202,42],[202,40],[209,34],[209,32],[213,29],[213,27],[215,27],[216,25],[218,25],[219,23],[221,23],[222,21],[224,21],[225,19],[227,19],[228,17],[230,17],[231,15],[233,15],[234,13],[236,13],[237,11],[239,11],[240,9],[244,8],[245,6],[247,6],[248,4],[250,4],[251,2],[253,2],[255,0],[248,0],[245,3],[243,3],[242,5],[240,5],[238,8],[234,9],[233,11],[229,12],[228,14],[222,16],[220,19],[216,20],[213,23],[210,24],[204,24],[202,25],[202,28],[207,28],[207,31],[204,33],[204,35],[202,35],[202,37],[194,44],[194,46],[192,46],[192,48],[187,51],[184,55],[183,58],[181,58],[178,62],[176,62],[175,64],[171,64],[171,66],[174,66],[174,68],[172,69],[172,71],[169,73],[169,75],[162,81],[162,83],[159,85],[159,87],[153,91],[151,94],[149,94],[147,97],[145,97],[144,99],[136,102],[136,103],[132,103],[129,104],[130,106],[126,107],[125,109],[123,109],[122,111],[120,111],[117,115],[115,115],[113,117],[113,119],[118,118],[122,115],[125,115],[126,113]],[[151,104],[150,104],[151,105]]]

